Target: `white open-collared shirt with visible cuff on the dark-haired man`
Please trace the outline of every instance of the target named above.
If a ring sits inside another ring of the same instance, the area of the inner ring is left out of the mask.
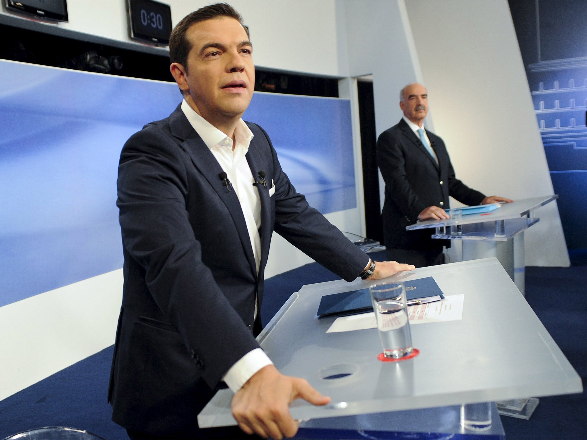
[[[185,100],[181,103],[181,110],[190,122],[196,133],[200,135],[204,144],[210,148],[222,170],[237,194],[241,204],[242,215],[251,239],[251,247],[259,272],[261,262],[261,198],[252,175],[251,168],[245,158],[253,134],[247,124],[241,119],[234,130],[235,146],[232,149],[232,139],[218,128],[212,126],[190,107]],[[257,317],[257,297],[255,297],[255,318]],[[273,363],[261,348],[255,348],[240,358],[222,378],[233,392],[237,392],[257,371]]]

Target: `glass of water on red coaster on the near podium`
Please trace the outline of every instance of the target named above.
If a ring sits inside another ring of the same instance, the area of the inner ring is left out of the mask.
[[[399,359],[414,351],[403,283],[387,281],[369,287],[383,356]]]

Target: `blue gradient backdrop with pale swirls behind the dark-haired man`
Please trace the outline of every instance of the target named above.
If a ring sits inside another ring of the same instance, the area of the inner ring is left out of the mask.
[[[0,306],[122,268],[120,149],[173,83],[0,60]],[[348,100],[256,93],[244,118],[323,214],[356,207]]]

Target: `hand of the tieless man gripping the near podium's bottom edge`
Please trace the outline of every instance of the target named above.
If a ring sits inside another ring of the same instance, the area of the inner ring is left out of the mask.
[[[293,437],[298,421],[289,414],[289,404],[302,398],[313,405],[326,405],[323,396],[304,379],[286,376],[274,365],[257,371],[232,397],[232,415],[247,434],[254,432],[264,438]]]

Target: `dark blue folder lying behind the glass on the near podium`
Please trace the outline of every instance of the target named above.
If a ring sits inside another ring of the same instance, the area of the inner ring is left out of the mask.
[[[404,287],[406,287],[406,299],[409,306],[440,301],[444,298],[442,290],[440,290],[440,287],[438,287],[436,281],[431,276],[405,281]],[[353,290],[352,292],[334,293],[333,295],[323,296],[320,300],[318,313],[316,314],[319,317],[347,316],[371,312],[372,310],[373,305],[371,304],[369,289],[359,289]]]

